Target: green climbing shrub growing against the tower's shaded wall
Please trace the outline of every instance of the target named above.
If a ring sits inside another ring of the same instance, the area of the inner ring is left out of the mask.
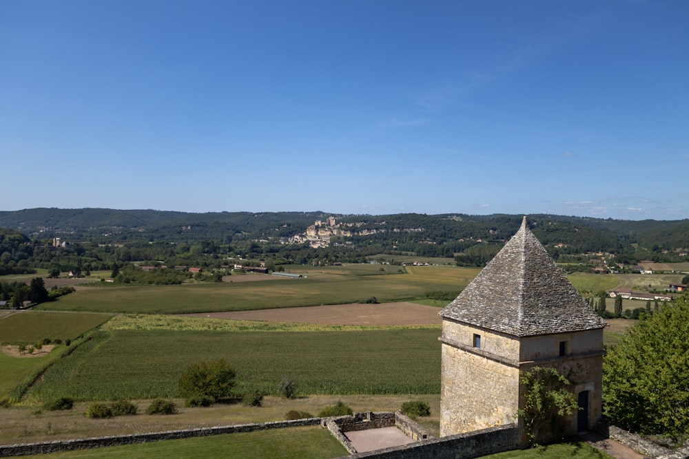
[[[517,416],[531,444],[544,439],[543,427],[551,427],[551,435],[558,434],[562,416],[573,414],[579,406],[577,396],[567,387],[570,381],[555,368],[533,367],[522,372],[520,383],[525,389],[524,405]]]

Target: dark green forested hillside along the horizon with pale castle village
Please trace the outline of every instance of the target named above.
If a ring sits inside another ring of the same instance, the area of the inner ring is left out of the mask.
[[[0,268],[5,273],[29,272],[30,268],[64,272],[112,269],[133,261],[221,266],[229,257],[260,259],[274,268],[290,263],[366,261],[384,254],[446,257],[462,266],[483,266],[517,231],[522,217],[333,215],[320,211],[4,211],[0,212],[0,228],[6,228],[0,232]],[[618,264],[628,269],[642,260],[689,261],[689,220],[637,222],[562,215],[528,215],[527,220],[551,255],[572,269],[596,265],[603,270],[617,269]],[[319,231],[329,232],[329,236],[324,239]],[[59,244],[54,238],[60,239]]]

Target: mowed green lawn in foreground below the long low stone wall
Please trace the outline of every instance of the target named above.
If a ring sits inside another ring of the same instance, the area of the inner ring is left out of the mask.
[[[63,453],[41,454],[41,458],[304,458],[347,456],[347,450],[320,425],[291,427],[183,440],[149,442]]]

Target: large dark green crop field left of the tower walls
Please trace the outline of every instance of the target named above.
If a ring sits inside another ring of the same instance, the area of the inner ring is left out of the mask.
[[[30,396],[50,400],[177,397],[178,378],[207,359],[237,370],[237,394],[278,395],[283,378],[300,394],[438,394],[439,329],[347,332],[98,332],[60,359]]]

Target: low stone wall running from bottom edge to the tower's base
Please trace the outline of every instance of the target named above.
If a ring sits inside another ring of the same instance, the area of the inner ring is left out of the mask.
[[[368,453],[353,453],[340,459],[472,459],[512,451],[517,449],[518,444],[519,429],[515,425],[504,425]]]

